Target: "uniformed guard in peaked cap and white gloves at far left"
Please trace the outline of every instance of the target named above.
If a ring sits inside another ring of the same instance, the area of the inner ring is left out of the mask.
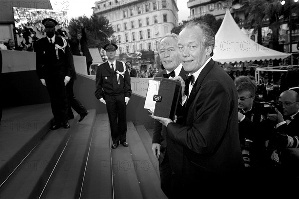
[[[57,21],[51,18],[42,20],[46,37],[34,42],[36,52],[36,72],[41,83],[49,92],[54,125],[51,130],[60,127],[70,128],[68,123],[68,99],[66,85],[74,71],[72,70],[73,55],[66,39],[55,35]]]

